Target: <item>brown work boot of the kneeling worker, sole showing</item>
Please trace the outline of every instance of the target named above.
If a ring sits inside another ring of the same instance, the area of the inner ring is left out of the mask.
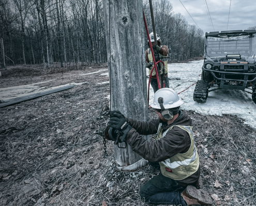
[[[188,185],[182,192],[182,197],[187,205],[212,205],[213,200],[205,190],[198,190],[194,186]]]

